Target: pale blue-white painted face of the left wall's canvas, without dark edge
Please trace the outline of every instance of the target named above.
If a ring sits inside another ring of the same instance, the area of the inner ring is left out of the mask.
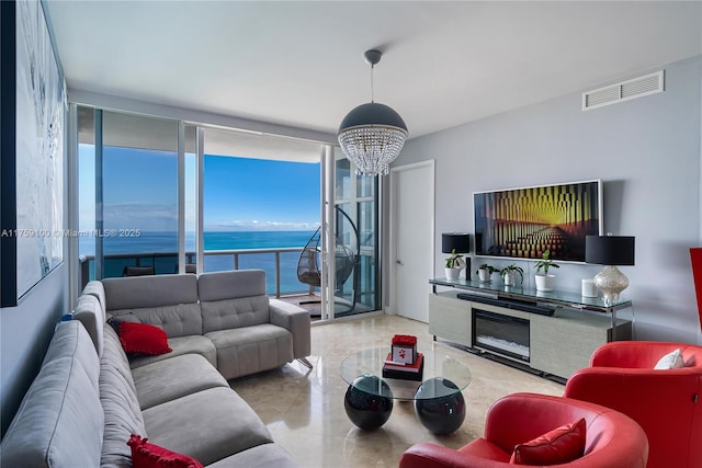
[[[16,297],[64,260],[66,85],[42,3],[16,2]]]

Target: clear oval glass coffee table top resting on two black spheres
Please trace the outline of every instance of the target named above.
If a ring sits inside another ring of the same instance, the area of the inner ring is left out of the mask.
[[[421,381],[383,378],[383,363],[390,346],[363,350],[347,356],[341,378],[356,390],[403,400],[429,400],[462,391],[471,384],[471,369],[441,350],[418,349],[423,354]]]

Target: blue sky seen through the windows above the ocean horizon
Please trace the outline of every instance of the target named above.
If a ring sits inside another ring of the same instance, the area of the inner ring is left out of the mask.
[[[94,150],[80,146],[80,230],[94,227]],[[186,173],[194,169],[189,158]],[[205,156],[205,230],[309,230],[319,225],[319,163]],[[173,152],[105,148],[104,219],[107,229],[177,229]],[[191,178],[192,180],[192,178]],[[186,181],[186,219],[194,193]],[[190,222],[189,222],[190,225]]]

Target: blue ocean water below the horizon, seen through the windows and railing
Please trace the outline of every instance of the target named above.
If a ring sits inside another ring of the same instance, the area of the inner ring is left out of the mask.
[[[113,236],[112,236],[113,233]],[[283,249],[299,248],[307,244],[315,231],[233,231],[205,232],[205,252],[216,250],[245,249]],[[122,235],[122,236],[121,236]],[[149,254],[173,253],[173,255],[146,256],[140,260],[141,265],[155,265],[158,274],[176,273],[178,264],[177,232],[111,232],[103,237],[105,255],[113,254]],[[194,238],[185,239],[185,250],[194,252]],[[94,255],[95,237],[79,239],[81,255]],[[281,293],[298,293],[308,290],[306,284],[297,279],[297,261],[299,252],[282,252],[280,254]],[[194,259],[192,261],[194,263]],[[105,260],[105,277],[122,276],[125,265],[134,265],[134,258],[124,256]],[[234,270],[234,255],[205,255],[205,272],[220,272]],[[262,269],[265,271],[269,294],[275,293],[275,254],[251,253],[239,255],[239,270]],[[94,264],[90,264],[90,277],[94,277]]]

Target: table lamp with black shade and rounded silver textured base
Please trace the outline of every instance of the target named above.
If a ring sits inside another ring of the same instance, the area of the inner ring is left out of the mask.
[[[629,278],[616,265],[634,264],[634,238],[631,236],[586,236],[585,261],[605,265],[595,275],[595,286],[602,292],[605,305],[612,305],[629,286]]]

